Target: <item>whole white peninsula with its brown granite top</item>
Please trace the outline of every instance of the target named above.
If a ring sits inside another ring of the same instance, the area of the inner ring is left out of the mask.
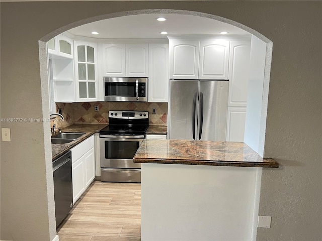
[[[141,240],[252,240],[261,172],[279,164],[245,143],[144,140]]]

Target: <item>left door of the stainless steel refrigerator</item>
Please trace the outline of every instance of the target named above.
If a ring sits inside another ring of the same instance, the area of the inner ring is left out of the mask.
[[[169,139],[197,140],[198,81],[170,81]]]

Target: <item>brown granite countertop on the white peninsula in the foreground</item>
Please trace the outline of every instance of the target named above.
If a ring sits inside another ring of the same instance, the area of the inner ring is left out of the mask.
[[[279,167],[243,142],[145,139],[133,162],[235,167]]]

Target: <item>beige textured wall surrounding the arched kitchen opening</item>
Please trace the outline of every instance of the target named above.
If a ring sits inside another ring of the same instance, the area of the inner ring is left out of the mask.
[[[320,240],[320,1],[1,3],[1,118],[48,117],[42,116],[39,39],[75,21],[140,9],[218,15],[273,41],[265,156],[281,167],[263,170],[259,215],[272,216],[272,227],[259,228],[257,239]],[[12,142],[1,143],[1,239],[52,240],[49,123],[1,126],[12,132]]]

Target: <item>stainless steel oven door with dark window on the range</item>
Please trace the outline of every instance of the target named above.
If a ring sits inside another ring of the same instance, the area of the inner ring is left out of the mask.
[[[133,162],[133,157],[143,138],[104,138],[102,136],[104,135],[100,137],[101,168],[141,168],[140,163]]]

